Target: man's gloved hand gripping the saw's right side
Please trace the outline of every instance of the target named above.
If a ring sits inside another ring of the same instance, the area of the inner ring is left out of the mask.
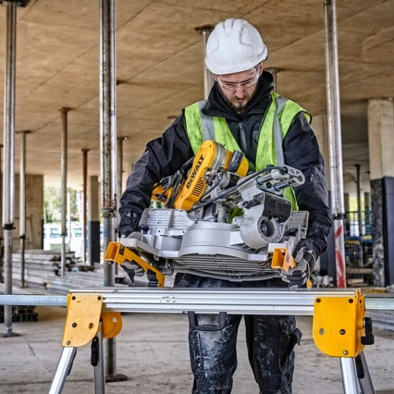
[[[320,256],[320,246],[314,237],[302,239],[293,251],[293,257],[297,266],[289,268],[289,271],[281,271],[280,275],[284,282],[289,283],[289,289],[298,289],[309,279],[314,270],[316,259]]]

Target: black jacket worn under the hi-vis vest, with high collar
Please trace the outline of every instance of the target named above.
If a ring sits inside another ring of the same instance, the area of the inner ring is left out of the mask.
[[[224,117],[248,160],[255,162],[257,136],[264,114],[271,103],[273,76],[264,71],[259,79],[257,93],[250,100],[243,115],[239,115],[223,100],[216,85],[209,93],[203,113]],[[323,157],[311,126],[300,112],[283,141],[284,161],[305,175],[305,184],[294,189],[300,210],[309,211],[308,237],[317,241],[320,252],[327,244],[327,234],[332,225],[329,219],[327,181]],[[136,230],[139,216],[151,203],[153,184],[173,175],[180,166],[194,155],[185,128],[184,113],[173,121],[162,137],[146,145],[146,151],[137,160],[121,196],[119,213],[120,234]]]

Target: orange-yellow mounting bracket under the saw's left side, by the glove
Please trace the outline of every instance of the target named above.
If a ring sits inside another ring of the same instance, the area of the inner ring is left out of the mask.
[[[151,273],[156,275],[157,287],[164,287],[164,275],[120,242],[108,243],[107,252],[105,252],[105,260],[118,264],[136,262],[144,271],[151,271]]]

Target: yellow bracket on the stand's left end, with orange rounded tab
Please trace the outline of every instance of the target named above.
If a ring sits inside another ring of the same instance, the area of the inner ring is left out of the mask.
[[[79,348],[86,345],[101,327],[104,338],[113,338],[121,332],[119,312],[102,312],[103,296],[100,294],[67,295],[67,318],[63,334],[63,347]]]

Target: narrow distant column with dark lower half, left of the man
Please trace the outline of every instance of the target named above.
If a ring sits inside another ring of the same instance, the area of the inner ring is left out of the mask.
[[[89,265],[100,262],[99,177],[89,178],[87,191],[89,219],[87,221],[87,260]]]

